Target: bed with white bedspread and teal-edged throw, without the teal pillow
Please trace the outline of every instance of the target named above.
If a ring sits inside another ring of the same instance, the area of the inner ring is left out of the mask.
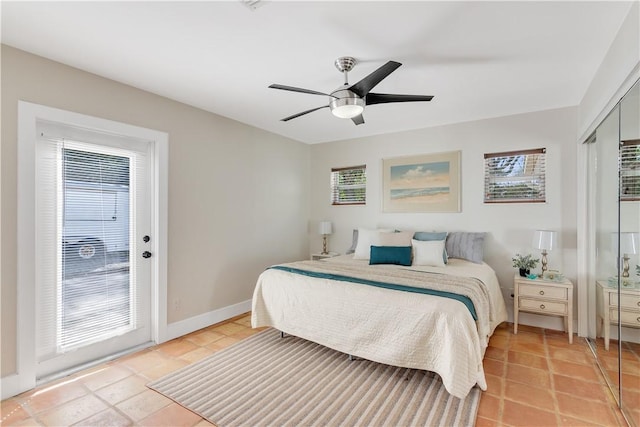
[[[459,398],[476,384],[486,390],[484,352],[496,326],[507,319],[493,269],[460,258],[416,265],[415,246],[411,265],[373,263],[378,246],[367,243],[370,259],[356,251],[265,270],[254,290],[252,326],[375,362],[436,372]]]

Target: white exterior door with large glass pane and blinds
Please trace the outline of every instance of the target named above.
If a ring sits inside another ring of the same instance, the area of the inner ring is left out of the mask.
[[[151,214],[148,143],[42,126],[39,378],[149,342],[151,336],[150,262],[141,256],[149,245],[143,236]]]

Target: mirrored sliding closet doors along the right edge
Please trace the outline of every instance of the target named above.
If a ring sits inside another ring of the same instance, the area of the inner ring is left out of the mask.
[[[640,83],[587,141],[589,344],[627,421],[640,427]]]

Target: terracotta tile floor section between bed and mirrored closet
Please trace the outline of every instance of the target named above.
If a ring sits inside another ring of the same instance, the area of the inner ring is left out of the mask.
[[[627,425],[577,336],[569,344],[563,332],[522,325],[514,335],[513,324],[503,323],[491,337],[484,369],[488,389],[476,426]],[[635,375],[640,380],[640,370]]]

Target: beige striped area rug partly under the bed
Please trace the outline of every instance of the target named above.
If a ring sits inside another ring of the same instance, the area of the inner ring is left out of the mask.
[[[267,329],[148,384],[218,427],[472,426],[480,389]]]

